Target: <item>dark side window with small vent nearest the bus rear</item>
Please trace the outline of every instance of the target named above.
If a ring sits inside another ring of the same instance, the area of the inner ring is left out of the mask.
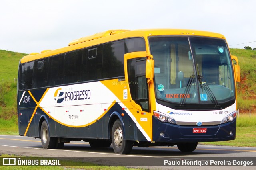
[[[32,88],[47,86],[48,58],[34,62],[34,75]]]

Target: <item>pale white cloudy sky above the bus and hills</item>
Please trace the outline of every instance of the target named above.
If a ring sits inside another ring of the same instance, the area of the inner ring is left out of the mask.
[[[0,49],[36,53],[111,29],[147,28],[211,31],[230,48],[256,48],[255,8],[255,0],[1,0]]]

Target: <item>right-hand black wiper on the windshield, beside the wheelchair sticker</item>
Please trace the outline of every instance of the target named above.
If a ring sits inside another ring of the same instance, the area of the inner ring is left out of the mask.
[[[210,87],[208,86],[206,81],[204,80],[204,77],[200,74],[200,71],[199,71],[199,68],[198,68],[198,63],[196,63],[196,69],[197,69],[197,79],[198,79],[199,84],[202,88],[202,91],[205,89],[206,93],[209,94],[212,102],[215,103],[215,106],[220,106],[218,100],[216,99],[216,97],[212,93],[212,90],[210,89]]]

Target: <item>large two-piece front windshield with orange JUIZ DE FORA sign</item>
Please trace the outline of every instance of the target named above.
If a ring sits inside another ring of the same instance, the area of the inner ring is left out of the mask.
[[[156,98],[180,106],[215,104],[235,97],[226,42],[206,37],[150,37]]]

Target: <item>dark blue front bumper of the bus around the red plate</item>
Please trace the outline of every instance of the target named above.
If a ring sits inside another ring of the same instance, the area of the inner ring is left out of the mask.
[[[193,133],[194,128],[206,128],[206,133]],[[153,141],[166,143],[213,142],[236,139],[236,118],[232,122],[210,126],[183,126],[162,123],[152,117]]]

